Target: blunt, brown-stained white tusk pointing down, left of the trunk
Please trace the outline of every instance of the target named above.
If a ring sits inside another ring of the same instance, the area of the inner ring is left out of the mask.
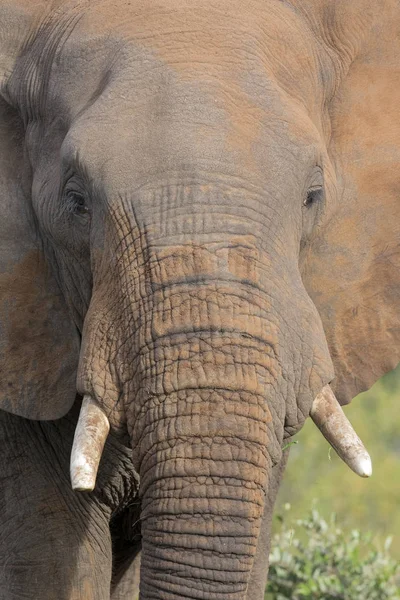
[[[91,492],[94,489],[109,431],[110,423],[104,411],[90,396],[84,396],[71,452],[70,472],[73,490]]]

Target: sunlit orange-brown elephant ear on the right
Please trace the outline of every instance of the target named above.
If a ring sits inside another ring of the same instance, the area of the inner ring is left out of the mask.
[[[400,5],[387,5],[332,101],[336,193],[304,266],[342,404],[400,361]]]

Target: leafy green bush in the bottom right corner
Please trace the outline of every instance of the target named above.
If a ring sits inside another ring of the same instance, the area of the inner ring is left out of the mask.
[[[287,507],[288,508],[288,507]],[[281,515],[273,539],[266,600],[400,600],[400,565],[371,534],[345,534],[317,510],[290,527]]]

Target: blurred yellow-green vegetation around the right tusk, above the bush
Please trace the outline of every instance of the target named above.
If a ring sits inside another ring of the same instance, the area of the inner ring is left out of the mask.
[[[275,512],[290,503],[291,519],[304,519],[312,506],[327,519],[336,513],[344,531],[370,531],[378,546],[392,536],[390,553],[400,561],[399,407],[400,367],[344,409],[372,457],[371,479],[352,473],[308,419],[290,450]]]

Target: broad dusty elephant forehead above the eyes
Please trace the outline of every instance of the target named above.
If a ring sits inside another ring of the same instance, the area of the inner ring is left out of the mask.
[[[85,146],[85,159],[96,154],[96,164],[101,152],[103,165],[118,156],[116,177],[129,170],[140,177],[136,152],[138,164],[180,168],[192,160],[270,178],[278,163],[293,163],[290,155],[309,154],[298,140],[315,145],[312,106],[322,105],[307,27],[276,4],[120,0],[82,12],[67,2],[34,42],[32,81],[23,73],[19,81],[37,104],[42,88],[50,91],[50,121],[61,112],[75,126],[83,116],[73,151]]]

